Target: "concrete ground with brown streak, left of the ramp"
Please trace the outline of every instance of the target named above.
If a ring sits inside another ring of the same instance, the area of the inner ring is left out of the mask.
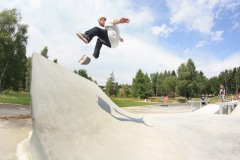
[[[0,104],[0,160],[16,160],[17,145],[32,130],[30,107]]]

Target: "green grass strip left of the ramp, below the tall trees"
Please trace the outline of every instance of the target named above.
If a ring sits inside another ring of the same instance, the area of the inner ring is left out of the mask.
[[[30,105],[28,92],[4,91],[0,93],[0,103]]]

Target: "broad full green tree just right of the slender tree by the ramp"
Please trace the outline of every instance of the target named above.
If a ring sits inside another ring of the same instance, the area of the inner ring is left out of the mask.
[[[131,92],[134,97],[138,98],[148,98],[153,95],[150,78],[147,74],[143,74],[141,69],[133,78]]]

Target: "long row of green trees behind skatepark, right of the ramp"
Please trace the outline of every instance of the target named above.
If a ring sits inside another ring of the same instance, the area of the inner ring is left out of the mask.
[[[86,70],[81,70],[81,72],[84,72],[84,75],[79,75],[83,77],[87,75]],[[239,81],[240,67],[225,70],[218,76],[207,78],[202,71],[196,70],[194,62],[189,59],[187,63],[182,63],[178,67],[177,73],[174,70],[165,70],[148,75],[139,69],[131,85],[118,84],[112,72],[107,79],[105,92],[109,96],[141,99],[166,95],[173,98],[182,96],[190,99],[202,95],[218,95],[221,84],[225,86],[228,95],[237,94],[240,91]]]

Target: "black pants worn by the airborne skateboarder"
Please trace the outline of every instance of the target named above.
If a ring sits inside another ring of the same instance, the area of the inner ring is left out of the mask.
[[[95,36],[98,37],[96,45],[95,45],[94,53],[93,53],[95,56],[97,56],[97,57],[99,56],[100,50],[101,50],[103,44],[111,48],[111,44],[109,42],[108,33],[107,33],[106,29],[94,27],[94,28],[86,31],[85,34],[89,38],[88,42],[90,42],[93,39],[93,37],[95,37]]]

